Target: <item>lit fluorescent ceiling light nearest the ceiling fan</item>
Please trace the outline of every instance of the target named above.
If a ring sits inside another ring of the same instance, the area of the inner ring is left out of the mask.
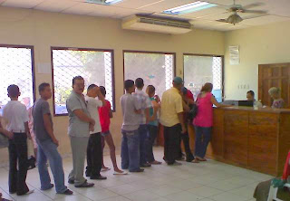
[[[217,5],[214,4],[209,4],[208,2],[194,2],[190,3],[188,5],[181,5],[178,7],[170,8],[168,10],[163,11],[164,14],[174,14],[174,15],[179,15],[179,14],[189,14],[193,12],[198,12],[200,10],[208,9],[210,7],[214,7]]]

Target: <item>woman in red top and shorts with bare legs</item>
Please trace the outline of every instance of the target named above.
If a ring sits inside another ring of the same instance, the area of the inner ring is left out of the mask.
[[[102,92],[102,95],[106,96],[106,89],[101,86],[100,90]],[[122,171],[120,168],[118,168],[117,161],[116,161],[116,153],[115,153],[115,145],[114,141],[111,137],[110,132],[110,123],[112,118],[112,112],[111,112],[111,103],[110,101],[106,100],[106,105],[99,108],[99,116],[100,116],[100,122],[102,127],[102,150],[105,147],[105,142],[107,142],[109,148],[110,148],[110,156],[111,156],[111,162],[114,167],[114,175],[127,175],[127,172]],[[110,170],[110,168],[107,168],[103,164],[102,159],[102,171]]]

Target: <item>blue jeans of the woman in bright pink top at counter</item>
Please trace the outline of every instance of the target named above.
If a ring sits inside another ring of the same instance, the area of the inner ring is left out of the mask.
[[[196,130],[195,156],[205,158],[211,139],[211,127],[194,127]]]

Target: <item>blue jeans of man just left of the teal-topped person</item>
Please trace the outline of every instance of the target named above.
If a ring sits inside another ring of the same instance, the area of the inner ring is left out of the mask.
[[[139,127],[140,136],[140,166],[146,164],[148,161],[146,159],[146,140],[148,139],[148,125],[141,124]]]

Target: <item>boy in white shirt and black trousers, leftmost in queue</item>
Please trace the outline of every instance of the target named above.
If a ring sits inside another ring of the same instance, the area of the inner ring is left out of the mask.
[[[3,109],[3,118],[7,125],[6,129],[14,133],[13,139],[9,139],[8,147],[9,193],[16,193],[18,196],[28,195],[34,192],[29,190],[25,181],[28,169],[26,140],[27,137],[31,139],[28,129],[28,112],[25,105],[18,101],[19,87],[13,84],[8,87],[7,91],[11,101]]]

